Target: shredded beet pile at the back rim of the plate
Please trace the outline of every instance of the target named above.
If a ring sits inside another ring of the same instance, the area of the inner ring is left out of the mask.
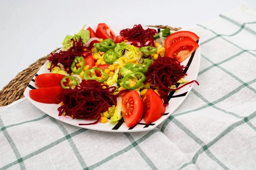
[[[134,27],[131,29],[126,28],[120,31],[120,35],[124,37],[125,40],[140,42],[140,46],[145,46],[145,42],[147,42],[148,40],[151,41],[147,45],[154,46],[153,36],[155,34],[157,34],[157,31],[155,29],[148,28],[145,30],[140,24],[134,25]],[[137,43],[133,43],[132,45],[139,46],[137,45]]]

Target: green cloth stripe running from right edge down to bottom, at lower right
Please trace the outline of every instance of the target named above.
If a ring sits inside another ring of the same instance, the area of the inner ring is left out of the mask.
[[[226,136],[228,133],[230,133],[232,130],[234,130],[236,127],[239,127],[240,125],[243,125],[244,123],[246,123],[245,120],[250,121],[251,119],[253,119],[254,117],[256,117],[256,112],[251,113],[249,116],[245,117],[244,119],[241,119],[238,122],[233,123],[232,125],[228,126],[223,132],[221,132],[216,138],[214,138],[211,142],[209,142],[206,146],[201,147],[201,149],[199,149],[196,153],[195,156],[192,158],[192,161],[187,162],[186,164],[183,164],[179,169],[182,169],[184,167],[186,167],[189,164],[195,164],[196,160],[198,159],[198,156],[201,153],[204,153],[205,150],[208,150],[213,144],[215,144],[216,142],[218,142],[221,138],[223,138],[224,136]]]

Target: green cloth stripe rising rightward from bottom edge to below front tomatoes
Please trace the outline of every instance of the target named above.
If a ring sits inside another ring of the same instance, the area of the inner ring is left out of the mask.
[[[144,142],[146,139],[148,139],[150,136],[152,136],[154,133],[160,132],[159,129],[154,129],[149,131],[148,133],[146,133],[143,137],[141,137],[140,139],[138,139],[137,141],[135,141],[137,144],[140,144],[142,142]],[[134,148],[134,145],[136,145],[136,143],[133,142],[132,144],[130,144],[128,147],[125,147],[122,150],[119,150],[116,153],[113,153],[111,156],[108,156],[107,158],[103,159],[102,161],[97,162],[96,164],[91,165],[90,167],[87,167],[85,170],[92,170],[95,169],[96,167],[101,166],[102,164],[105,164],[106,162],[110,161],[111,159],[116,158],[117,156],[122,155],[123,153],[128,152],[129,150]]]

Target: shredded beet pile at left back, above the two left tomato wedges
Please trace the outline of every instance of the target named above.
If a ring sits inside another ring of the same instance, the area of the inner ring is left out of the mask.
[[[49,61],[52,62],[49,68],[50,72],[52,71],[52,68],[58,66],[58,63],[61,63],[64,66],[65,71],[67,71],[67,73],[72,73],[70,66],[75,57],[83,56],[84,52],[90,52],[89,50],[87,50],[87,48],[83,47],[81,37],[78,41],[74,39],[71,40],[73,42],[73,46],[70,49],[68,49],[67,51],[60,51],[59,53],[55,54],[51,53],[52,56],[47,58]]]

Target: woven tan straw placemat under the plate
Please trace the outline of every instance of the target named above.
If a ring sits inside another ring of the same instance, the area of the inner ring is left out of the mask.
[[[170,28],[172,31],[178,31],[181,28],[174,28],[171,26],[149,26],[154,28]],[[55,51],[52,51],[52,53],[55,53]],[[4,86],[3,89],[0,91],[0,106],[6,106],[11,104],[12,102],[15,102],[18,99],[21,99],[24,97],[23,92],[26,89],[26,86],[29,84],[31,79],[35,76],[35,74],[38,72],[38,70],[44,65],[44,63],[47,61],[47,58],[50,57],[51,54],[48,54],[45,57],[42,57],[41,59],[38,59],[33,64],[29,65],[28,68],[24,69],[20,73],[17,74],[17,76],[12,79],[8,83],[8,85]]]

